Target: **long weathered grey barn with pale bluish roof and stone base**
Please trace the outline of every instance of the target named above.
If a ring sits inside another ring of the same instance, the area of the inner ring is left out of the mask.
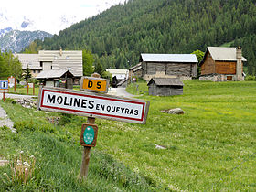
[[[142,53],[140,62],[143,79],[147,81],[152,78],[191,80],[192,77],[197,77],[197,56],[195,54]]]

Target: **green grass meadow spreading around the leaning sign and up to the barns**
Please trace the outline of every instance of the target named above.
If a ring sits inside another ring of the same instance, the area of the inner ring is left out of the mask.
[[[138,90],[146,91],[145,83],[138,85]],[[144,93],[139,98],[150,101],[146,124],[96,120],[98,141],[92,150],[88,182],[82,184],[76,176],[81,160],[80,126],[86,119],[1,102],[18,133],[2,128],[0,155],[27,150],[36,154],[37,168],[26,186],[1,180],[0,186],[9,190],[256,190],[256,82],[188,80],[183,95]],[[186,113],[160,112],[176,107]],[[59,125],[47,122],[51,116],[61,117]],[[155,144],[166,149],[156,149]],[[8,167],[2,170],[10,174]]]

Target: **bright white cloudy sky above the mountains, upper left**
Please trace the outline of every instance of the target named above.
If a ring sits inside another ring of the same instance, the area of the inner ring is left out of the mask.
[[[24,20],[33,23],[30,30],[58,34],[70,24],[95,16],[125,0],[8,0],[1,2],[0,29],[20,29]],[[27,29],[26,28],[26,29]]]

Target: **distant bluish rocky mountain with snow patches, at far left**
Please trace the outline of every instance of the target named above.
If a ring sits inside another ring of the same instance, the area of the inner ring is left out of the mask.
[[[0,30],[0,48],[2,52],[5,50],[20,52],[35,39],[44,40],[45,37],[52,37],[52,35],[44,31],[19,31],[7,27]]]

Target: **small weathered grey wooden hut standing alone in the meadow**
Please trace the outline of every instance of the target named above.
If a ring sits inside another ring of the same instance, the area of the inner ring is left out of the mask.
[[[147,83],[149,95],[170,96],[183,94],[183,82],[178,78],[152,78]]]

